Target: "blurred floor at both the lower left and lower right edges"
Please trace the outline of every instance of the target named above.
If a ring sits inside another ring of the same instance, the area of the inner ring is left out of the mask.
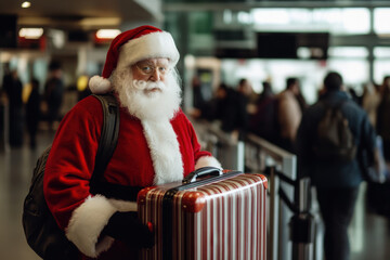
[[[39,154],[51,143],[52,132],[40,132],[38,147],[27,145],[0,152],[0,259],[38,260],[26,244],[22,227],[23,200]],[[350,229],[351,260],[389,260],[390,226],[384,217],[365,210],[364,186]],[[384,198],[389,199],[390,198]],[[390,202],[389,202],[390,203]]]

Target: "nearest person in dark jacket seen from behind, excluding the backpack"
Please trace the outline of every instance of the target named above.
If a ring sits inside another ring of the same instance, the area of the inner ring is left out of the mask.
[[[347,118],[360,151],[374,153],[375,130],[367,114],[341,90],[342,77],[335,72],[324,79],[325,93],[303,114],[297,134],[299,174],[311,178],[316,187],[320,210],[325,223],[325,258],[348,260],[350,255],[348,226],[352,219],[359,186],[363,181],[359,156],[351,161],[323,161],[313,152],[316,128],[325,114],[325,103],[343,102],[341,113]]]

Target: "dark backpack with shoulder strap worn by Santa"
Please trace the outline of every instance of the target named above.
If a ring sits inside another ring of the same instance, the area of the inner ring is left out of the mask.
[[[103,107],[102,135],[99,142],[91,186],[101,180],[116,148],[119,132],[119,108],[113,95],[93,95]],[[31,185],[23,206],[23,229],[27,244],[43,259],[78,259],[79,251],[56,224],[43,195],[43,174],[49,146],[38,158]]]

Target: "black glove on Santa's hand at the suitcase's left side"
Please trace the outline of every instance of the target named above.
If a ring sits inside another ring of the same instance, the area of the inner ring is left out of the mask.
[[[103,234],[128,244],[132,248],[151,248],[154,234],[138,218],[136,212],[116,212],[104,227]]]

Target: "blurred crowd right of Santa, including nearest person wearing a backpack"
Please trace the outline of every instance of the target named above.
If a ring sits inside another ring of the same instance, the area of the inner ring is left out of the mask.
[[[359,96],[346,88],[340,74],[329,72],[312,105],[301,93],[299,78],[287,78],[280,93],[271,82],[262,84],[260,94],[240,79],[236,88],[220,84],[210,101],[199,102],[195,95],[195,115],[220,121],[232,136],[245,140],[251,132],[296,154],[298,178],[310,178],[316,190],[325,259],[348,260],[348,229],[363,181],[368,183],[367,205],[390,216],[382,200],[390,195],[390,76],[380,86],[364,86]],[[375,181],[368,172],[375,172]]]

